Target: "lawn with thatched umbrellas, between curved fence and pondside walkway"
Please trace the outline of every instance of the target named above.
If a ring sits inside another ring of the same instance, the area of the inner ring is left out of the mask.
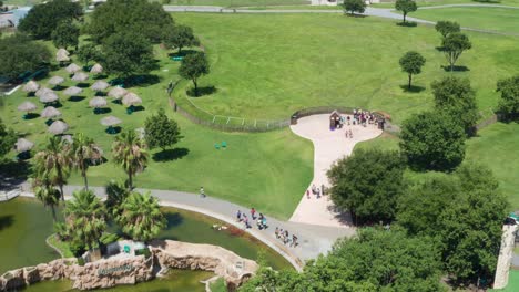
[[[126,178],[123,170],[111,160],[114,136],[104,132],[105,127],[100,124],[102,117],[116,116],[122,119],[120,126],[123,131],[143,127],[145,118],[159,108],[169,108],[165,88],[170,80],[176,77],[179,63],[170,61],[166,53],[167,51],[155,48],[161,69],[153,73],[159,76],[159,83],[129,88],[142,97],[145,108],[132,115],[126,114],[124,106],[112,103],[110,97],[108,100],[111,113],[95,115],[88,105],[94,95],[90,88],[84,90],[81,95],[85,98],[79,102],[69,101],[61,91],[57,91],[62,103],[59,111],[70,126],[67,133],[81,132],[94,138],[108,158],[108,163],[89,169],[91,185],[104,186],[110,179]],[[51,72],[50,76],[52,75],[64,76],[64,86],[75,85],[64,70]],[[47,86],[49,77],[39,83]],[[89,80],[88,83],[91,85],[93,80]],[[27,97],[27,94],[19,90],[13,95],[1,98],[2,121],[27,139],[34,142],[35,149],[43,147],[50,136],[45,119],[23,119],[23,113],[17,109],[19,104],[30,101],[38,105],[37,113],[40,113],[44,107],[38,97]],[[222,133],[194,125],[172,111],[166,112],[179,122],[185,137],[175,145],[175,149],[162,156],[159,154],[157,158],[156,154],[161,150],[151,152],[147,168],[136,176],[138,187],[197,192],[203,186],[208,196],[255,207],[281,219],[292,215],[312,180],[311,142],[299,138],[287,128],[264,134]],[[227,143],[227,148],[215,149],[214,145],[222,142]],[[69,184],[83,182],[78,174],[73,174]]]

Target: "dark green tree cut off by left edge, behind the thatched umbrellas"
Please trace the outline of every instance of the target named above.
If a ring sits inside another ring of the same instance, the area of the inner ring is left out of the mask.
[[[0,39],[0,76],[16,79],[27,71],[48,66],[51,59],[49,49],[31,41],[24,34]]]

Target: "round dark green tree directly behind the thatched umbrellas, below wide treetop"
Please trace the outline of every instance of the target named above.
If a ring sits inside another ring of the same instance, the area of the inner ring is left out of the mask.
[[[153,48],[141,34],[132,31],[116,33],[103,44],[103,67],[112,74],[128,77],[146,74],[154,67]]]

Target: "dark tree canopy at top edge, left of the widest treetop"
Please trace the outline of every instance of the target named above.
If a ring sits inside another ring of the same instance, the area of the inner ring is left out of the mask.
[[[52,0],[34,6],[20,21],[18,29],[37,39],[49,40],[58,23],[78,19],[83,14],[79,2]]]

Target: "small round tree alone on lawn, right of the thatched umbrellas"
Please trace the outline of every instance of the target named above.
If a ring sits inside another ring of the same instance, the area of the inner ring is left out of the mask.
[[[146,118],[144,129],[146,144],[151,149],[160,147],[165,150],[182,139],[179,124],[166,116],[164,108]]]

